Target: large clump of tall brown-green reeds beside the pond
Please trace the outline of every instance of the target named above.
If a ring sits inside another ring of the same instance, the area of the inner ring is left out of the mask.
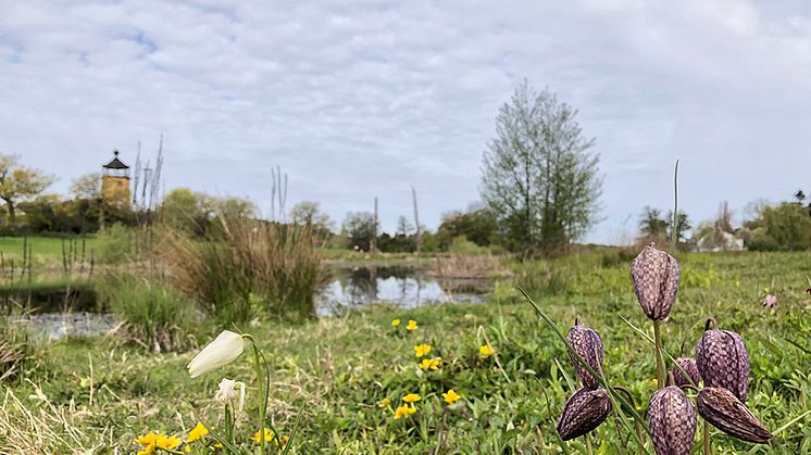
[[[321,277],[312,229],[247,217],[220,219],[221,232],[203,241],[170,236],[173,285],[224,320],[250,320],[257,311],[311,316]]]

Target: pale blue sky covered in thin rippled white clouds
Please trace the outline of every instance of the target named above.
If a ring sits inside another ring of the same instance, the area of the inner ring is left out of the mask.
[[[134,164],[164,137],[165,187],[319,201],[384,229],[479,199],[501,104],[526,78],[578,110],[603,191],[584,241],[645,205],[694,222],[811,193],[806,1],[0,0],[0,153],[57,177]]]

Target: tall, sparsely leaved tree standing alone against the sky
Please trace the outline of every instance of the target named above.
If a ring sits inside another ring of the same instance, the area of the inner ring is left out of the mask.
[[[599,157],[576,114],[526,80],[499,110],[482,164],[482,199],[512,251],[551,253],[596,220]]]

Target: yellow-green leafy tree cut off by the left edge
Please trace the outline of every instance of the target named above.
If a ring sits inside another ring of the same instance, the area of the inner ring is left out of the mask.
[[[0,199],[5,202],[9,220],[14,223],[16,205],[48,188],[53,178],[41,170],[20,165],[17,155],[0,155]]]

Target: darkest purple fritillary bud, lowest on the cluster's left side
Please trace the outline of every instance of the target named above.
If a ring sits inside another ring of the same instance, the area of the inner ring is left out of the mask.
[[[558,433],[563,441],[582,437],[599,427],[611,414],[611,400],[603,389],[581,388],[566,400],[558,420]]]

